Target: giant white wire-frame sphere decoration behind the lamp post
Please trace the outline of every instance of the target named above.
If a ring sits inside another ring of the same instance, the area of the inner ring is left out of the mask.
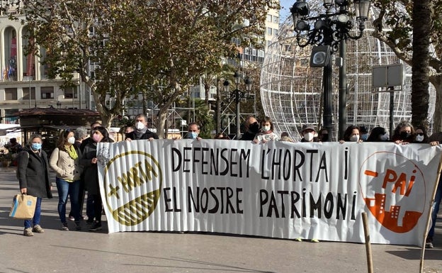
[[[318,3],[319,2],[319,3]],[[312,10],[322,10],[323,1],[309,1]],[[375,126],[390,128],[390,93],[372,88],[371,72],[375,65],[393,65],[401,62],[392,50],[374,38],[373,18],[378,11],[371,9],[365,23],[363,37],[347,40],[346,64],[348,93],[346,101],[347,126]],[[354,22],[353,22],[354,24]],[[385,25],[386,26],[386,25]],[[356,33],[353,33],[355,35]],[[432,50],[432,48],[431,48]],[[300,140],[305,124],[322,127],[322,67],[310,67],[312,47],[300,48],[296,43],[292,18],[287,18],[278,35],[268,47],[261,71],[261,100],[266,116],[274,123],[276,133],[288,132]],[[339,126],[339,67],[331,55],[333,67],[333,140]],[[405,81],[402,91],[395,91],[394,123],[409,121],[412,116],[412,68],[404,64]],[[430,84],[429,123],[432,123],[436,90]]]

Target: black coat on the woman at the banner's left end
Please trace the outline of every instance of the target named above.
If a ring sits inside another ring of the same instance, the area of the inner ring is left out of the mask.
[[[88,194],[100,194],[98,186],[98,166],[92,164],[96,155],[96,143],[87,143],[81,155],[80,164],[84,166],[84,185]]]

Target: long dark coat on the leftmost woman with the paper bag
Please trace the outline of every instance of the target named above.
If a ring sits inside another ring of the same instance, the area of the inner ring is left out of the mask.
[[[25,147],[18,154],[17,178],[20,189],[26,188],[27,194],[52,198],[47,154],[44,150],[33,152]]]

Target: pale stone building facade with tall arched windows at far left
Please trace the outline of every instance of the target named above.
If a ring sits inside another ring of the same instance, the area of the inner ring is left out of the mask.
[[[16,113],[34,107],[88,108],[86,88],[74,74],[75,87],[62,88],[63,80],[50,79],[41,64],[45,49],[39,55],[27,52],[28,28],[21,21],[0,15],[0,116],[1,123],[18,123]],[[81,85],[82,88],[81,88]]]

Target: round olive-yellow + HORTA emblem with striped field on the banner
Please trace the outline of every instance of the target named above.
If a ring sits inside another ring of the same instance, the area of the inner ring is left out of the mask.
[[[122,225],[142,223],[158,204],[162,182],[162,169],[152,155],[123,152],[104,168],[105,205]]]

